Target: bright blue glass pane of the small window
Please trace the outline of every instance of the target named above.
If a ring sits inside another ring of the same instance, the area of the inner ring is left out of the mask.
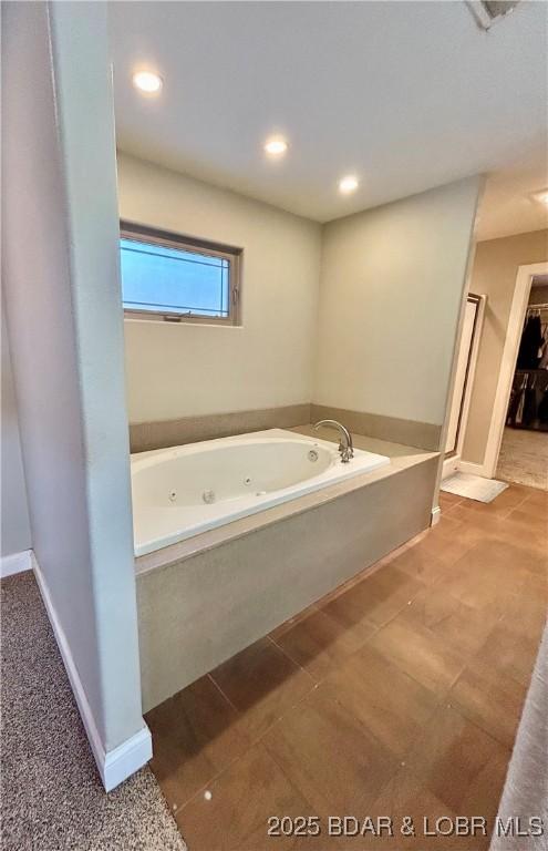
[[[229,260],[136,239],[120,240],[124,307],[227,317]]]

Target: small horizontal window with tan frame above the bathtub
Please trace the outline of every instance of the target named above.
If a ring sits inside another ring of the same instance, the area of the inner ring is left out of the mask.
[[[121,223],[127,316],[238,324],[241,249]]]

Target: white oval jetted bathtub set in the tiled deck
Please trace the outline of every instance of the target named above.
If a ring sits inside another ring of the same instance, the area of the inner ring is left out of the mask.
[[[255,514],[389,464],[354,449],[282,429],[132,455],[135,555]]]

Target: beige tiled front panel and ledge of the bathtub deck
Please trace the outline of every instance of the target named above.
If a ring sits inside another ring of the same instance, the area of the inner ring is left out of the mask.
[[[354,445],[390,464],[136,560],[144,711],[430,525],[437,453]]]

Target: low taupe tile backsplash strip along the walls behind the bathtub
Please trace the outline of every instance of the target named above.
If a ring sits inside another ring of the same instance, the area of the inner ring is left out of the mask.
[[[134,422],[130,426],[130,444],[132,452],[148,452],[153,449],[179,447],[183,443],[228,438],[263,429],[291,429],[327,418],[340,420],[355,434],[402,443],[406,447],[418,447],[432,452],[436,452],[440,448],[441,426],[313,402],[250,411],[207,413],[178,420]]]

